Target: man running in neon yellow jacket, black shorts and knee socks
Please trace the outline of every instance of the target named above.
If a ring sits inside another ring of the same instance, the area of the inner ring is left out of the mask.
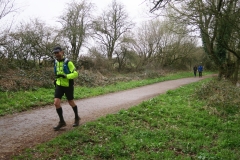
[[[78,116],[78,108],[74,102],[74,82],[73,79],[78,77],[78,72],[73,64],[64,57],[64,51],[61,47],[55,47],[53,49],[55,55],[55,94],[54,94],[54,105],[56,107],[57,114],[59,116],[59,123],[56,127],[53,127],[54,130],[59,130],[60,128],[66,126],[66,122],[63,118],[63,110],[60,105],[62,96],[65,94],[67,97],[69,105],[72,107],[75,114],[75,121],[73,127],[79,125],[80,117]]]

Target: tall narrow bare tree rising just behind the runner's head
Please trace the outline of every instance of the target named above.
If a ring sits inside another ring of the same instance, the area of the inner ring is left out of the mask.
[[[85,0],[79,3],[72,1],[68,4],[66,13],[59,19],[62,24],[61,33],[70,43],[74,61],[77,61],[79,52],[89,36],[91,10],[92,4]]]

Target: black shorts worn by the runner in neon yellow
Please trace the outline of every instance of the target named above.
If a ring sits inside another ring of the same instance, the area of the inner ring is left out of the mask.
[[[67,100],[73,100],[74,98],[73,92],[74,92],[73,85],[69,87],[63,87],[63,86],[57,85],[55,89],[54,98],[62,99],[62,96],[65,94],[65,96],[67,97]]]

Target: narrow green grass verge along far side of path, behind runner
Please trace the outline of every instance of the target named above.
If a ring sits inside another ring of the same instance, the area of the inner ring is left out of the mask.
[[[205,72],[205,75],[211,72]],[[176,74],[168,74],[155,79],[144,79],[140,81],[119,82],[114,85],[102,87],[75,87],[75,99],[93,97],[106,93],[117,92],[130,88],[140,87],[156,82],[166,80],[179,79],[184,77],[192,77],[191,72],[180,72]],[[26,111],[32,108],[42,107],[44,105],[53,104],[54,87],[50,89],[40,88],[36,91],[19,91],[19,92],[0,92],[0,116],[7,114]]]

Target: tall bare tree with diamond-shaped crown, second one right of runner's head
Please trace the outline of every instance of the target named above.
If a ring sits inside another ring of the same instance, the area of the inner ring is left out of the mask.
[[[104,49],[107,58],[112,60],[114,51],[120,48],[123,35],[130,31],[133,23],[128,19],[124,6],[113,0],[109,10],[93,22],[95,38]]]

